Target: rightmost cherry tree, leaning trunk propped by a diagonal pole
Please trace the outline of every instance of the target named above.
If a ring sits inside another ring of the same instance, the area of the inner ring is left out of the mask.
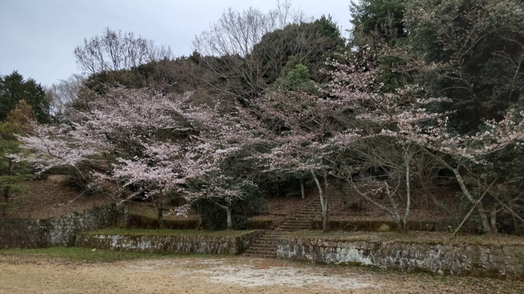
[[[518,113],[511,109],[504,119],[500,121],[486,121],[483,129],[483,131],[473,135],[452,135],[446,131],[446,117],[436,121],[435,125],[424,133],[405,133],[402,135],[407,140],[423,146],[427,154],[453,172],[464,196],[473,204],[472,210],[477,208],[484,232],[496,233],[498,204],[520,221],[524,222],[524,220],[499,199],[496,188],[497,186],[504,186],[505,183],[502,183],[498,176],[495,176],[493,181],[490,181],[491,183],[486,183],[487,176],[475,174],[474,168],[487,169],[490,165],[493,165],[489,161],[489,155],[491,154],[508,148],[522,148],[524,141],[524,112]],[[468,182],[471,182],[468,179],[473,180],[473,185],[468,185]],[[472,190],[483,191],[483,193],[476,197]],[[492,195],[496,200],[489,216],[482,202],[483,198],[488,194]],[[471,212],[468,213],[466,218],[470,216]]]

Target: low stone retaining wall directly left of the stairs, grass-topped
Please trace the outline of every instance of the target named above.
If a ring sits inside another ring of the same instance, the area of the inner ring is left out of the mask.
[[[241,254],[263,233],[255,230],[238,237],[80,233],[75,246],[162,254]]]

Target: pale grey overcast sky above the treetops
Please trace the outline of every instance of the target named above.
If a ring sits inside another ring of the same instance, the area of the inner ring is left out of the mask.
[[[350,0],[293,1],[315,18],[331,15],[343,30],[350,27]],[[42,85],[80,73],[73,50],[105,27],[171,46],[176,56],[192,52],[195,34],[207,29],[224,9],[249,6],[268,10],[277,1],[253,0],[0,0],[0,74],[18,70]]]

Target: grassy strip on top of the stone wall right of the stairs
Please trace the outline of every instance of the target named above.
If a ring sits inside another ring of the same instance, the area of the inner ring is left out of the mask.
[[[511,235],[457,235],[444,232],[411,231],[406,234],[397,232],[342,232],[334,231],[298,231],[287,234],[283,238],[304,238],[333,241],[368,241],[368,242],[399,242],[417,244],[474,244],[474,245],[524,245],[524,237]]]

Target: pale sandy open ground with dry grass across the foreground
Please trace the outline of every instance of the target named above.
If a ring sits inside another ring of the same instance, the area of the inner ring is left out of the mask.
[[[0,255],[0,293],[524,293],[524,284],[233,256],[86,263]]]

